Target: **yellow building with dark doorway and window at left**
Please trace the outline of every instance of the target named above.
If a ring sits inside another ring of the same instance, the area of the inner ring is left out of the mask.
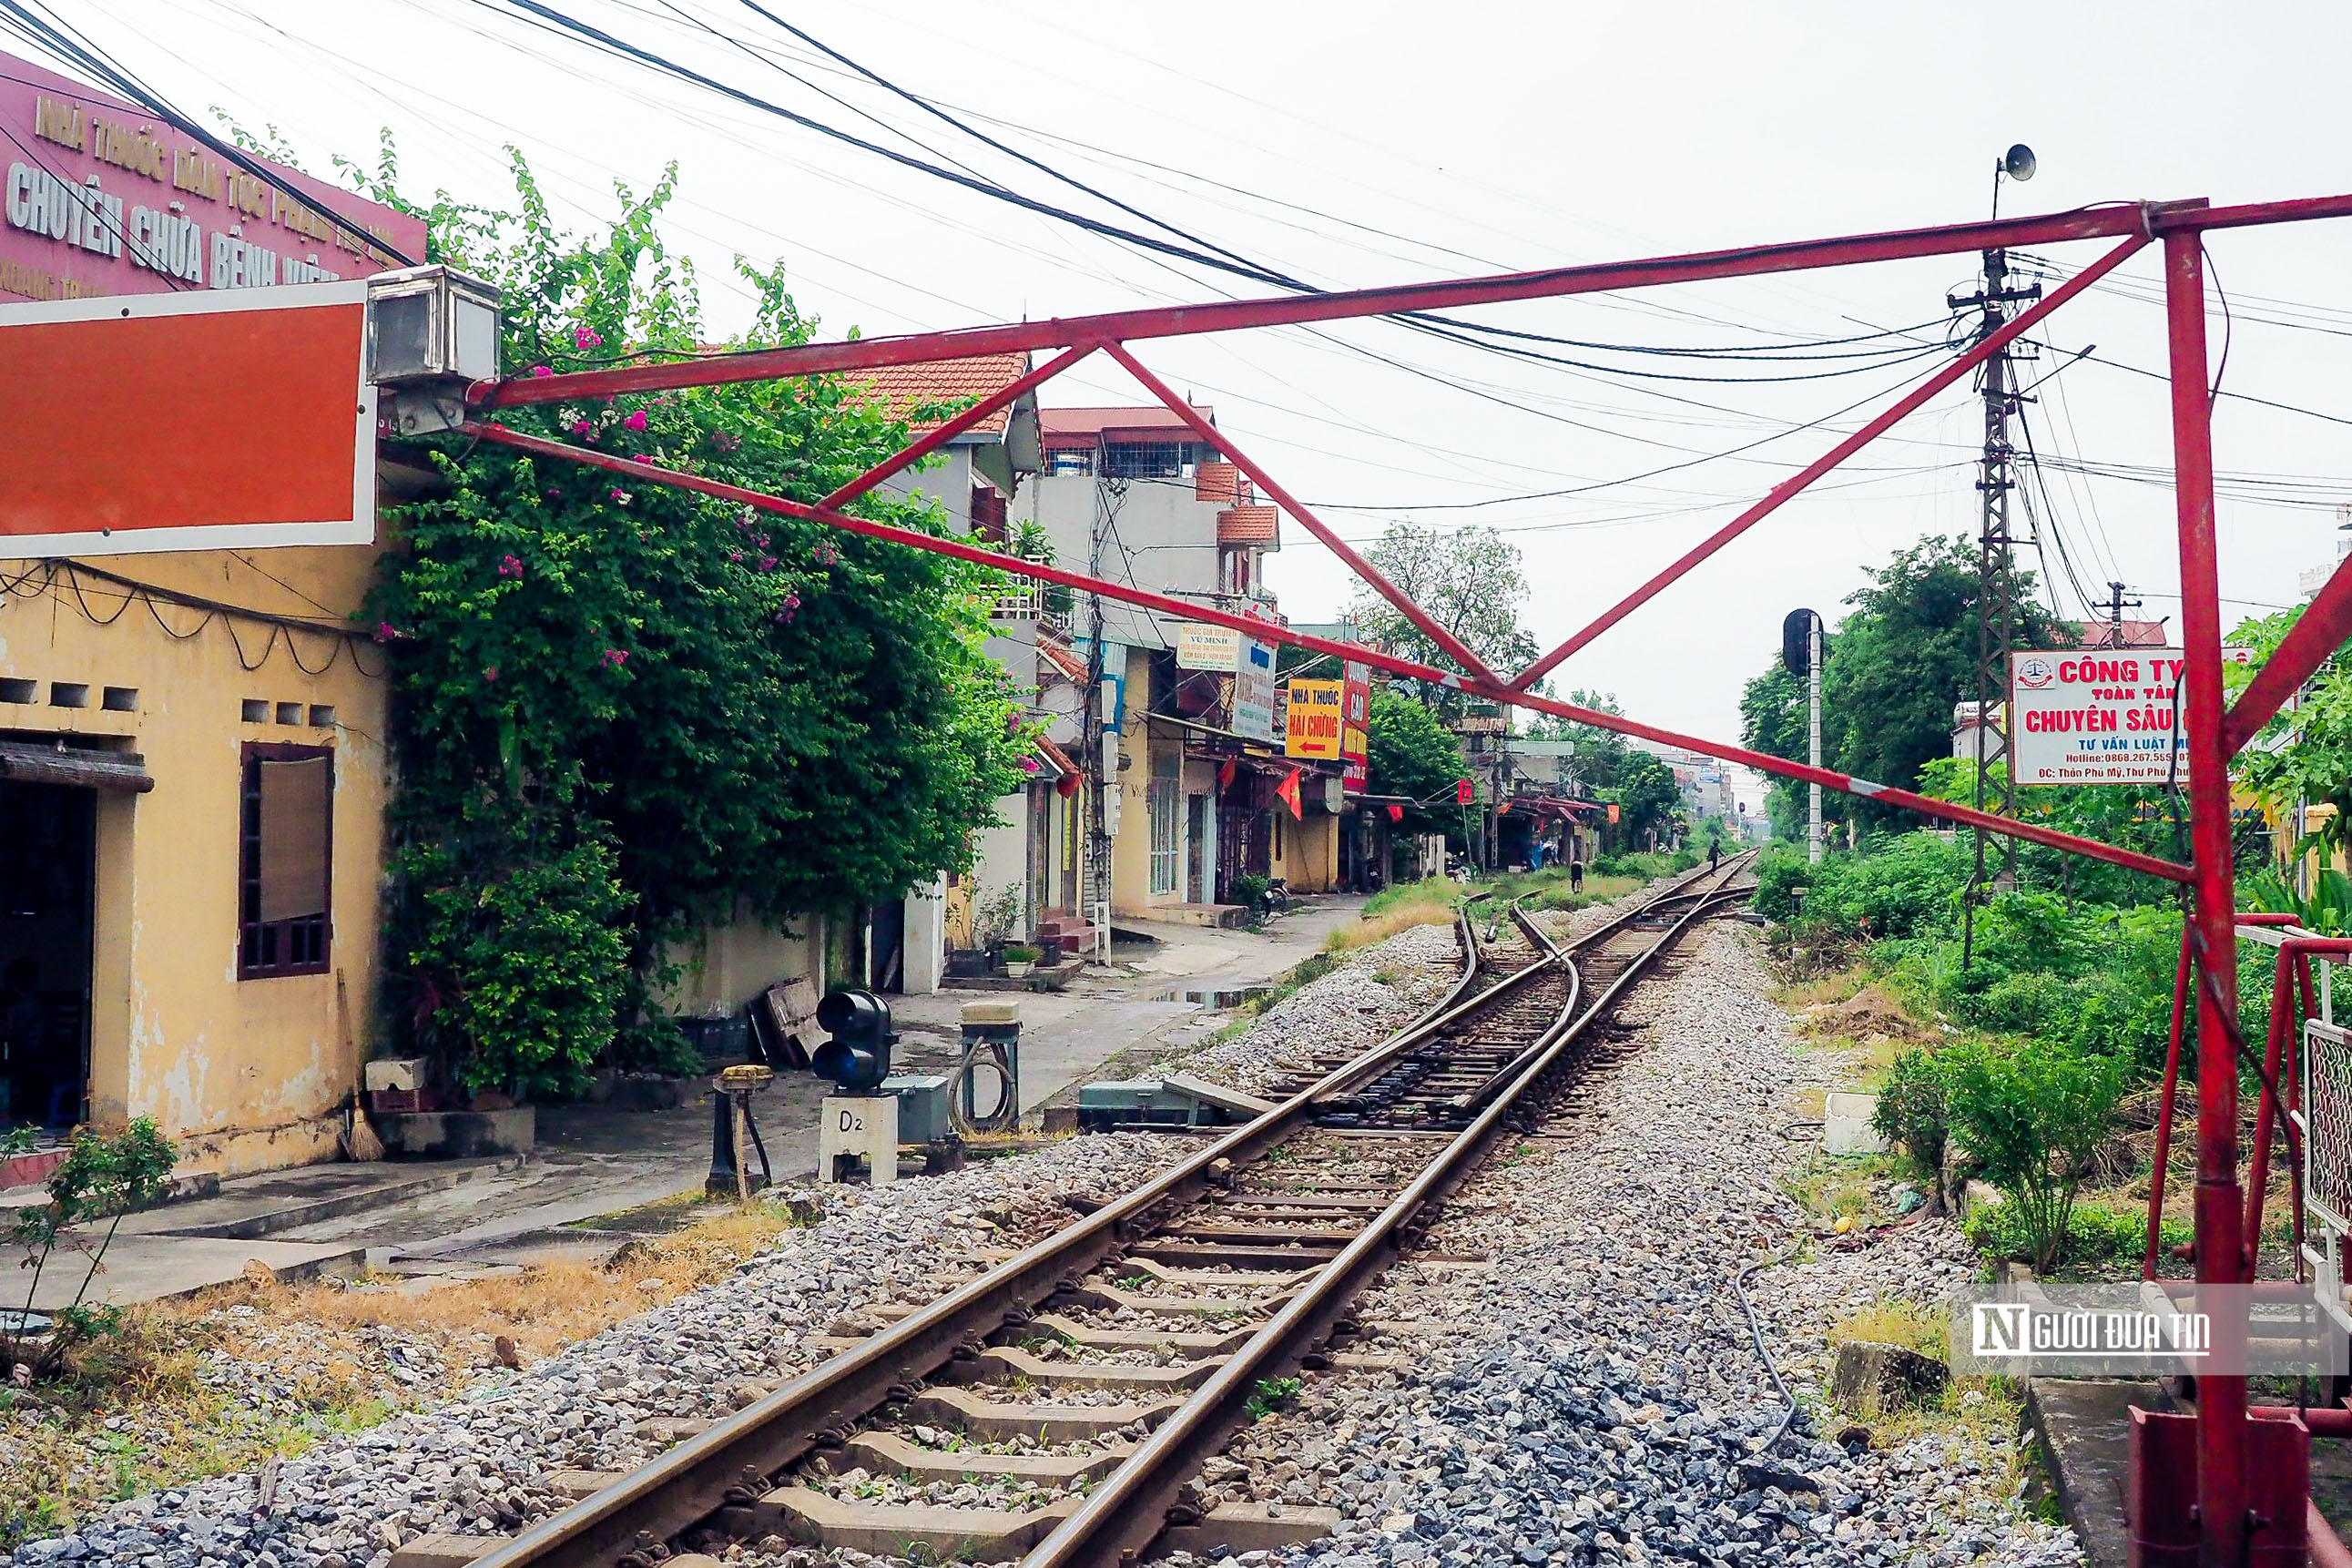
[[[376,1013],[374,562],[5,567],[0,1124],[153,1117],[183,1173],[334,1154]]]

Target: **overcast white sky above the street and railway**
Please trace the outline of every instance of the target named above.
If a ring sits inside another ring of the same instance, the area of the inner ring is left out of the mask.
[[[1950,223],[1985,214],[2011,141],[2039,176],[2004,212],[2133,197],[2241,202],[2352,188],[2340,71],[2352,7],[2044,5],[1985,26],[1929,5],[1049,5],[767,0],[826,45],[997,139],[1209,242],[1324,287]],[[59,0],[181,108],[275,125],[310,162],[390,127],[416,193],[510,197],[503,143],[564,221],[612,212],[670,160],[670,235],[703,268],[720,329],[746,315],[729,259],[783,259],[826,336],[1263,294],[1181,261],[950,188],[706,89],[600,56],[501,0],[240,5]],[[1134,223],[854,80],[743,0],[562,0],[562,9],[757,96],[1042,200]],[[7,45],[21,47],[21,45]],[[790,73],[790,75],[788,75]],[[793,80],[793,78],[804,80]],[[828,101],[816,89],[849,103]],[[870,115],[870,118],[868,118]],[[877,125],[882,122],[882,125]],[[915,136],[936,153],[917,150]],[[2079,268],[2100,247],[2051,247]],[[2352,498],[2352,223],[2225,233],[2234,306],[2223,388],[2331,418],[2220,402],[2223,592],[2258,614],[2333,555]],[[1583,341],[1722,348],[1919,329],[1976,259],[1503,306],[1484,322]],[[2178,588],[2157,261],[2145,252],[2053,317],[2072,355],[2027,409],[2046,473],[2042,529],[2091,592],[2110,578],[2173,616]],[[2213,320],[2216,353],[2223,327]],[[1350,538],[1390,520],[1510,531],[1550,644],[1809,461],[1933,360],[1872,339],[1813,355],[1644,357],[1555,348],[1606,371],[1529,364],[1388,322],[1183,339],[1143,360],[1216,407],[1223,430]],[[1374,357],[1378,355],[1378,357]],[[2110,364],[2110,360],[2114,364]],[[2056,369],[2044,355],[2025,376]],[[1672,376],[1853,371],[1724,386]],[[1047,402],[1131,402],[1091,362]],[[1811,430],[1849,404],[1860,409]],[[1736,738],[1738,691],[1797,604],[1837,614],[1863,569],[1922,534],[1976,527],[1980,411],[1945,393],[1813,494],[1578,654],[1562,686]],[[1752,451],[1606,484],[1780,433]],[[2089,461],[2091,477],[2065,463]],[[2157,470],[2140,482],[2122,473]],[[2291,484],[2274,484],[2288,480]],[[1512,501],[1531,491],[1578,496]],[[1432,505],[1475,510],[1421,510]],[[1289,529],[1275,585],[1291,618],[1348,599],[1343,569]],[[2060,607],[2079,614],[2074,590]]]

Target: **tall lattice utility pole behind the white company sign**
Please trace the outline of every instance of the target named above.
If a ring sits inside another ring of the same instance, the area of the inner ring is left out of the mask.
[[[2016,150],[2011,153],[2011,158]],[[2027,165],[2030,167],[2030,165]],[[1999,172],[1994,174],[1994,207],[1999,207]],[[1976,310],[1976,339],[1985,341],[2009,324],[2009,308],[2042,299],[2042,284],[2009,287],[2009,252],[1985,252],[1983,284],[1969,296],[1945,296],[1952,310]],[[2016,489],[2016,451],[2009,444],[2009,418],[2018,411],[2018,395],[2011,383],[2011,350],[2002,348],[1985,360],[1978,378],[1985,404],[1985,456],[1976,480],[1983,496],[1983,529],[1976,550],[1976,809],[1985,809],[1990,771],[1994,762],[2006,762],[2006,731],[2002,755],[1990,750],[1992,708],[2009,691],[2009,651],[2018,639],[2016,562],[2009,531],[2009,491]],[[2030,527],[2030,524],[2027,524]],[[2032,538],[2027,536],[2027,543]],[[2002,816],[2018,813],[2016,769],[2002,769]],[[2011,889],[2018,882],[2018,842],[2002,835],[1999,870],[1992,886]],[[1976,959],[1976,905],[1985,896],[1985,830],[1976,830],[1976,858],[1969,872],[1969,896],[1962,903],[1959,964],[1969,969]]]

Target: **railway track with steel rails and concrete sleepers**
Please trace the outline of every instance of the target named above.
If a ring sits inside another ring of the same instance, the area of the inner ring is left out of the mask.
[[[1327,1533],[1336,1509],[1202,1514],[1188,1483],[1282,1378],[1362,1361],[1348,1345],[1376,1326],[1348,1305],[1496,1138],[1606,1060],[1613,1001],[1745,896],[1745,867],[1684,875],[1566,947],[1517,907],[1479,940],[1465,910],[1461,978],[1397,1034],[941,1300],[875,1309],[896,1321],[649,1465],[574,1476],[562,1514],[447,1556],[652,1568],[779,1535],[1110,1568]]]

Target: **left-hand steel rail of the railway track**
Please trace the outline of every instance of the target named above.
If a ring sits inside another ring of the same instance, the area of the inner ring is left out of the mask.
[[[1550,966],[1548,959],[1538,959],[1484,990],[1475,990],[1482,976],[1477,931],[1470,917],[1475,903],[1479,900],[1468,900],[1454,919],[1463,952],[1461,978],[1444,997],[1381,1044],[1077,1225],[1033,1241],[922,1312],[821,1361],[569,1509],[541,1519],[475,1559],[473,1568],[609,1568],[623,1554],[647,1542],[666,1542],[715,1514],[729,1502],[729,1490],[741,1488],[750,1472],[781,1474],[830,1436],[847,1434],[856,1420],[889,1403],[894,1392],[936,1373],[957,1352],[1004,1326],[1025,1321],[1037,1302],[1073,1286],[1091,1267],[1145,1234],[1157,1218],[1204,1197],[1218,1185],[1223,1171],[1247,1164],[1303,1126],[1322,1100],[1345,1093],[1432,1032],[1517,990]]]

